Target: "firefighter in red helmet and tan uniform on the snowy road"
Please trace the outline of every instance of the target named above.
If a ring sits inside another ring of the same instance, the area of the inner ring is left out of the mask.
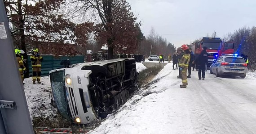
[[[189,50],[189,47],[185,44],[181,46],[181,49],[184,50],[185,54],[182,56],[179,62],[179,67],[181,71],[181,80],[182,80],[182,85],[180,85],[180,88],[186,88],[188,84],[187,70],[190,62],[190,50]]]

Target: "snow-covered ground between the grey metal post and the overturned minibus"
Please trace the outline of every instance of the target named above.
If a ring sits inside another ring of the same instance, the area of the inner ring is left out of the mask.
[[[49,117],[57,115],[57,109],[50,104],[52,95],[49,76],[41,78],[42,84],[33,84],[32,78],[24,80],[24,91],[31,119],[33,117]]]

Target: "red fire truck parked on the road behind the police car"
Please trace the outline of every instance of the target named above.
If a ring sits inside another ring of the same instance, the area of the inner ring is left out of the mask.
[[[202,40],[193,42],[190,48],[195,52],[196,49],[203,50],[203,46],[207,46],[208,63],[207,67],[210,67],[212,62],[222,54],[234,53],[234,42],[223,43],[221,38],[208,38],[203,37]]]

